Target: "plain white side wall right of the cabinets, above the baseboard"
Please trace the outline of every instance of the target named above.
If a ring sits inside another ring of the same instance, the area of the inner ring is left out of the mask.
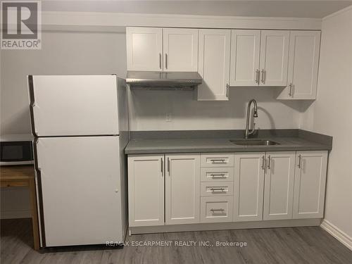
[[[329,155],[325,220],[352,242],[351,106],[352,8],[348,8],[322,21],[318,98],[306,113],[303,129],[334,137]]]

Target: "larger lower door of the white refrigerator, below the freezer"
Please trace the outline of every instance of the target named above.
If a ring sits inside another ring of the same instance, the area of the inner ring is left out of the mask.
[[[122,241],[119,137],[46,137],[36,146],[45,245]]]

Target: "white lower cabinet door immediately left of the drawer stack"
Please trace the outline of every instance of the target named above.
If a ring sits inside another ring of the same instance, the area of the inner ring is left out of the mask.
[[[198,154],[170,154],[165,184],[166,225],[199,222],[200,158]]]

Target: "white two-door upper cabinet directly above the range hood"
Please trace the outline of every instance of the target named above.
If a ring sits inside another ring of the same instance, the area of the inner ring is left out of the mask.
[[[196,72],[198,30],[126,27],[127,70]]]

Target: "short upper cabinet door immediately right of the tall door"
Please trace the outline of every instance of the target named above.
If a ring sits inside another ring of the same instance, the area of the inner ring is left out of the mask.
[[[231,86],[258,86],[260,30],[232,30]]]

